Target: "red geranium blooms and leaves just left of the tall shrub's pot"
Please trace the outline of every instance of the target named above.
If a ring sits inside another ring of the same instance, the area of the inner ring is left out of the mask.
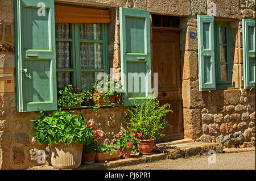
[[[117,133],[115,137],[117,138],[117,145],[119,145],[121,148],[123,147],[128,150],[137,149],[137,140],[135,138],[135,133]]]

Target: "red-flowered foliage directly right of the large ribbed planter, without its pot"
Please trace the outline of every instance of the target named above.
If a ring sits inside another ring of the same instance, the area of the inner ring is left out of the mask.
[[[102,138],[100,134],[96,133],[96,127],[92,123],[88,122],[85,126],[87,131],[86,142],[84,144],[83,154],[86,156],[88,153],[94,153],[98,150],[100,145],[100,139]]]

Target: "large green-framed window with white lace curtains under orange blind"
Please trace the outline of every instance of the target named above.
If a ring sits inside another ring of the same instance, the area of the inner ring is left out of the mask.
[[[56,23],[57,87],[92,89],[97,73],[108,71],[107,24]]]

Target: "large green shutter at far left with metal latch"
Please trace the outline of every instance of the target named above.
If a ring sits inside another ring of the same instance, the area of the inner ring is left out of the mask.
[[[54,1],[15,1],[15,19],[18,112],[57,110]]]

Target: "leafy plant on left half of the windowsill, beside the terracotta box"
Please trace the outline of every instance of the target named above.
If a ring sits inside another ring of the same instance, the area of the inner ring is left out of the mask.
[[[58,92],[58,106],[60,107],[80,107],[84,102],[85,94],[79,91],[78,86],[67,85]]]

